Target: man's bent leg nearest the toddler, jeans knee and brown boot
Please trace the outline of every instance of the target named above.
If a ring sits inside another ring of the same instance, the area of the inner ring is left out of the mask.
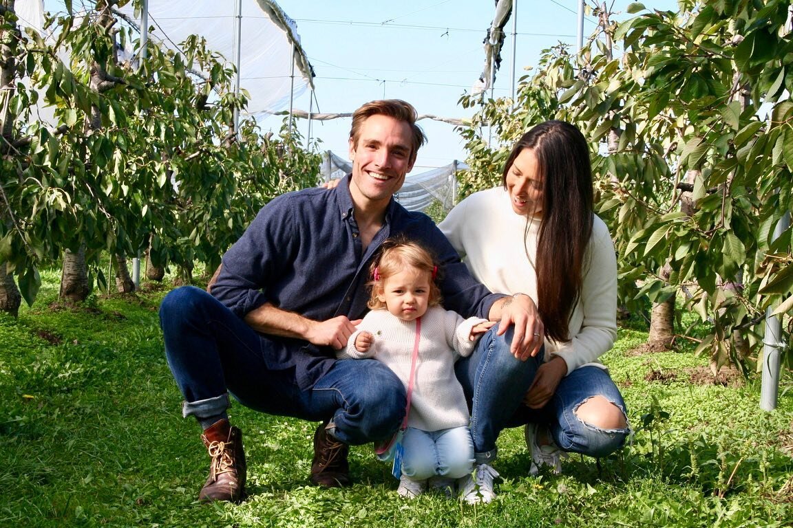
[[[311,483],[325,488],[352,484],[349,446],[390,438],[404,417],[404,385],[374,359],[343,359],[312,389],[312,401],[335,408],[314,433]]]

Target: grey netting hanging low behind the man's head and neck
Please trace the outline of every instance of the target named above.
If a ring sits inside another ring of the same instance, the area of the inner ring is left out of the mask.
[[[441,203],[445,211],[450,211],[457,200],[457,171],[466,169],[468,165],[462,161],[453,161],[438,169],[405,177],[395,198],[408,211],[424,211],[435,200]],[[351,170],[349,161],[344,161],[328,150],[323,155],[320,178],[323,181],[341,178]]]

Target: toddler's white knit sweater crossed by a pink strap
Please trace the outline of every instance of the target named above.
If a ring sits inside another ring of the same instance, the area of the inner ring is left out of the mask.
[[[485,321],[463,319],[456,312],[433,306],[421,317],[419,357],[413,382],[408,425],[422,431],[439,431],[468,425],[469,413],[462,386],[454,376],[454,362],[471,355],[476,340],[469,340],[473,326]],[[374,335],[366,352],[355,349],[362,331]],[[336,351],[339,359],[374,358],[385,363],[408,389],[416,340],[416,321],[402,321],[388,310],[372,310],[347,341],[347,349]]]

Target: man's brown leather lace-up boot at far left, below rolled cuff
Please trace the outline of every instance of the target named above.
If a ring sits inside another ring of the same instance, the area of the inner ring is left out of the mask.
[[[215,500],[237,502],[245,496],[245,451],[243,433],[232,427],[228,420],[217,420],[204,431],[201,440],[209,450],[212,462],[198,500],[211,503]]]

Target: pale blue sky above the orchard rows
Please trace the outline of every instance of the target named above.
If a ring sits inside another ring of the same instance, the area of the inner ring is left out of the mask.
[[[85,2],[73,1],[75,7]],[[413,104],[419,114],[457,119],[473,114],[474,109],[462,108],[458,100],[463,94],[471,93],[482,74],[483,40],[495,14],[496,0],[278,0],[277,3],[297,23],[302,47],[316,74],[313,112],[353,112],[367,101],[399,98]],[[527,69],[535,68],[543,49],[559,43],[575,49],[578,3],[578,0],[516,0],[513,13],[516,24],[510,19],[504,28],[507,38],[492,90],[494,97],[511,96],[513,78],[517,85],[517,80],[529,73]],[[594,2],[588,0],[588,3]],[[676,10],[675,0],[643,3],[650,9]],[[625,10],[629,4],[627,0],[611,0],[616,19],[627,16]],[[57,7],[63,6],[63,0],[45,0],[44,6],[59,10]],[[186,16],[190,17],[190,13]],[[199,22],[199,27],[212,31],[213,25]],[[595,17],[591,14],[584,17],[584,38],[595,29]],[[243,78],[248,74],[243,71]],[[307,90],[294,99],[293,108],[308,112],[311,97]],[[264,131],[278,132],[282,120],[283,116],[270,116],[260,120],[260,124]],[[320,150],[331,150],[339,158],[348,159],[349,118],[312,121],[310,128],[308,120],[297,123],[305,139],[309,135],[312,140],[320,139]],[[419,150],[413,175],[465,160],[463,142],[454,125],[420,120],[419,126],[428,142]]]

